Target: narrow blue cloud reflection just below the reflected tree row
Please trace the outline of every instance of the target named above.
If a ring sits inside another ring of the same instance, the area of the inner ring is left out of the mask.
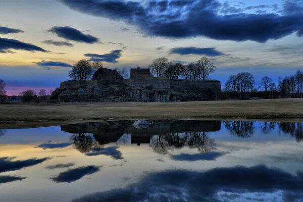
[[[170,158],[175,161],[214,161],[218,157],[221,157],[227,153],[212,151],[206,154],[179,154],[179,155],[170,155]]]

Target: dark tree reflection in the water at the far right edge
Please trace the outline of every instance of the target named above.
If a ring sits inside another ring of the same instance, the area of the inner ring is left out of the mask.
[[[303,123],[279,123],[279,129],[295,137],[297,142],[303,139]]]

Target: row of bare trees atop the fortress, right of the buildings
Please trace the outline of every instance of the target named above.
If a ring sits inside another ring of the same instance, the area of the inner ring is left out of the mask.
[[[207,57],[201,57],[195,63],[183,65],[179,62],[168,61],[167,58],[157,58],[148,66],[151,73],[157,77],[170,79],[206,79],[216,71],[216,66]]]

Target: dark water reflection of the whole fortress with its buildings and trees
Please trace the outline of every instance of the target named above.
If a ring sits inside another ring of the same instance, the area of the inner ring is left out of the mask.
[[[211,148],[209,145],[212,143],[207,141],[209,138],[205,132],[218,131],[220,127],[221,121],[155,120],[152,125],[142,129],[135,128],[133,121],[114,121],[63,125],[61,130],[74,133],[74,147],[84,153],[89,151],[87,146],[95,146],[95,143],[90,143],[89,138],[80,138],[80,133],[93,134],[99,145],[117,142],[124,138],[123,134],[130,134],[130,143],[150,144],[157,153],[164,154],[167,150],[183,146],[207,152],[209,149],[204,146]],[[81,143],[81,140],[88,142]]]

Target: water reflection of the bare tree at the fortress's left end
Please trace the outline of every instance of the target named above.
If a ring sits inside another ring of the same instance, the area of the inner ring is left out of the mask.
[[[93,146],[92,137],[86,133],[74,133],[71,136],[73,146],[81,153],[88,153]]]

